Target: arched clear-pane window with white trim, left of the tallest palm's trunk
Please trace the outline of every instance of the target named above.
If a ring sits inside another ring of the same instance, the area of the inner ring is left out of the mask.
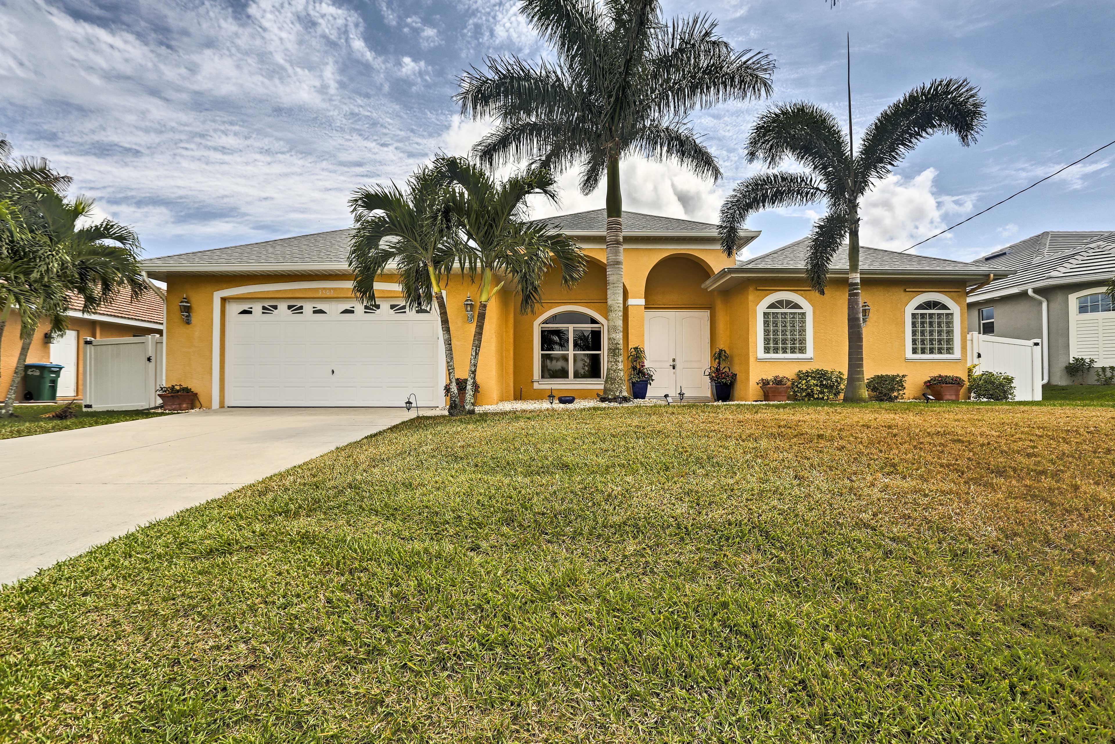
[[[554,313],[539,326],[539,354],[543,380],[602,380],[603,325],[588,313]]]

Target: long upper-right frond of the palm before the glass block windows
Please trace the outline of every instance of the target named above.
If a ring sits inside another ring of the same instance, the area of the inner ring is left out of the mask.
[[[863,133],[855,159],[859,194],[886,176],[913,147],[937,133],[953,134],[968,147],[987,121],[979,88],[966,78],[931,80],[894,101]]]

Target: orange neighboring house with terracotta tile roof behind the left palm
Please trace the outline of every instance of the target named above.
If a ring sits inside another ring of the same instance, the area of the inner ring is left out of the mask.
[[[28,362],[62,364],[58,380],[59,400],[81,398],[81,339],[122,339],[137,335],[163,334],[163,298],[148,290],[138,300],[127,292],[114,294],[96,313],[81,312],[81,301],[75,298],[67,313],[69,330],[51,337],[48,325],[40,325],[27,352]],[[8,392],[11,373],[19,356],[19,313],[12,311],[3,334],[0,351],[0,395]],[[16,400],[23,400],[23,381],[19,383]]]

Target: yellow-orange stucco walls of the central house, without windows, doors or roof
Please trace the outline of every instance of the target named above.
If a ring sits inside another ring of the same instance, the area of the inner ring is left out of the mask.
[[[705,243],[700,245],[715,245]],[[543,399],[549,394],[549,383],[534,382],[534,322],[543,314],[562,305],[575,305],[607,317],[607,295],[604,277],[604,248],[586,244],[585,253],[590,265],[584,280],[573,287],[560,285],[558,276],[551,275],[543,285],[543,303],[529,314],[520,314],[520,298],[511,290],[501,292],[488,306],[484,343],[477,365],[477,381],[481,404],[500,400]],[[730,364],[739,373],[736,385],[737,400],[754,400],[762,391],[754,381],[759,376],[786,374],[792,376],[797,370],[824,366],[846,370],[846,284],[833,283],[822,296],[805,288],[802,280],[754,281],[726,292],[706,292],[700,284],[715,271],[730,264],[730,260],[718,249],[692,247],[675,243],[631,242],[624,251],[624,354],[634,344],[644,345],[643,317],[647,307],[709,309],[710,352],[723,346],[730,354]],[[392,283],[396,277],[384,276],[384,283]],[[322,282],[343,283],[346,286],[320,286]],[[306,275],[255,275],[255,276],[171,276],[167,286],[173,306],[183,294],[193,305],[193,324],[186,325],[176,312],[168,317],[166,329],[168,383],[185,383],[198,392],[202,405],[213,404],[213,293],[221,290],[260,284],[288,284],[279,290],[265,292],[237,292],[227,298],[254,296],[301,297],[351,296],[351,276],[306,276]],[[789,288],[805,296],[814,306],[814,359],[794,361],[756,360],[756,305],[770,292]],[[864,330],[867,374],[879,372],[906,373],[908,393],[920,394],[921,382],[934,373],[964,374],[964,344],[960,344],[961,359],[956,361],[908,361],[905,359],[906,303],[918,292],[910,288],[931,288],[947,293],[961,306],[958,334],[961,341],[967,332],[963,286],[960,283],[905,281],[866,282],[864,298],[872,305],[871,321]],[[466,294],[478,296],[477,283],[468,277],[454,275],[446,286],[449,325],[453,335],[457,376],[467,372],[468,353],[472,346],[474,325],[465,319],[463,302]],[[385,291],[384,297],[399,296],[398,292]],[[628,304],[634,300],[636,304]],[[642,300],[646,305],[638,304]],[[223,307],[223,303],[222,303]],[[223,311],[222,311],[223,312]],[[223,349],[223,326],[219,332]],[[223,381],[222,369],[217,382]],[[592,397],[597,389],[553,388],[555,394],[573,394],[579,398]]]

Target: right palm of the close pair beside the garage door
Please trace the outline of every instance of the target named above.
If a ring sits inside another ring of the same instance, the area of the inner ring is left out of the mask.
[[[542,300],[541,286],[547,271],[555,264],[564,286],[572,286],[584,276],[585,257],[576,243],[544,222],[526,221],[526,199],[533,195],[558,200],[553,175],[544,168],[532,168],[496,183],[483,168],[465,158],[438,158],[435,167],[459,192],[453,200],[454,215],[467,246],[465,266],[479,274],[476,325],[468,359],[468,384],[465,386],[465,411],[473,413],[476,391],[476,364],[484,339],[484,321],[488,302],[503,286],[492,286],[495,276],[515,283],[520,295],[520,312],[534,312]]]

